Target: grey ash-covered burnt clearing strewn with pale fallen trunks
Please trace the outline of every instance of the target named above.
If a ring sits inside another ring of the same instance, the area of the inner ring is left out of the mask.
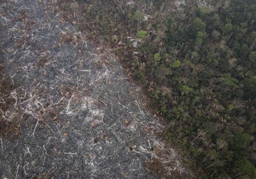
[[[0,178],[186,173],[115,56],[97,50],[53,6],[0,1],[1,73],[12,86],[1,96]]]

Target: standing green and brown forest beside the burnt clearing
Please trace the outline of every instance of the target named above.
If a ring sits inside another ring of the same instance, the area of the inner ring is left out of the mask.
[[[256,2],[127,2],[60,6],[81,31],[115,50],[168,120],[164,138],[195,173],[256,178]]]

